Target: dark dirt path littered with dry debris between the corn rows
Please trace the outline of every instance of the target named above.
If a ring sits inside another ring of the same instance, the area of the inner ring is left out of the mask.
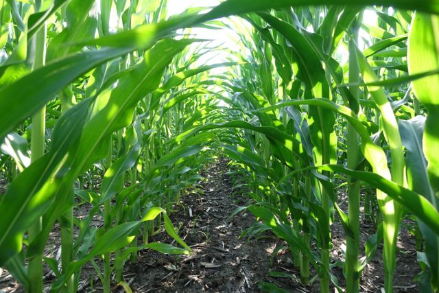
[[[193,248],[193,255],[141,253],[139,263],[127,266],[126,280],[133,292],[260,292],[258,281],[276,282],[267,276],[278,240],[240,239],[242,231],[254,224],[250,213],[227,219],[239,200],[231,196],[227,171],[222,159],[204,169],[202,176],[207,180],[200,183],[204,194],[182,197],[184,208],[171,217],[175,226],[184,229],[180,235]],[[154,241],[169,243],[169,238],[158,235]],[[280,259],[273,266],[292,270],[290,263]],[[306,292],[293,281],[277,282],[288,292]]]

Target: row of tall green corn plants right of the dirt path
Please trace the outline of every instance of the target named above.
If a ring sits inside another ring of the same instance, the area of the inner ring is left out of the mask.
[[[301,143],[298,152],[291,158],[292,161],[287,161],[287,156],[277,150],[277,145],[274,146],[271,142],[271,156],[265,154],[267,150],[263,141],[262,150],[255,150],[250,145],[250,148],[246,147],[247,150],[262,153],[263,158],[270,159],[262,164],[265,167],[279,165],[275,162],[280,161],[287,166],[290,164],[292,169],[286,174],[280,172],[278,178],[281,180],[276,181],[276,177],[272,177],[277,185],[272,185],[270,194],[274,193],[275,197],[281,196],[279,200],[274,204],[272,198],[269,201],[257,200],[257,207],[250,207],[250,211],[261,217],[274,233],[286,238],[293,253],[294,250],[298,250],[299,255],[294,253],[294,259],[300,267],[301,279],[305,284],[309,278],[311,261],[318,271],[322,292],[329,292],[329,280],[338,287],[331,274],[328,255],[331,248],[329,224],[334,220],[334,211],[338,213],[346,233],[346,292],[358,292],[361,270],[373,257],[379,243],[377,239],[381,237],[384,241],[385,290],[392,292],[396,237],[401,219],[407,212],[418,216],[420,230],[429,238],[425,238],[425,250],[418,252],[421,267],[425,268],[425,256],[430,259],[429,263],[437,263],[438,247],[434,244],[437,233],[432,233],[436,228],[429,230],[419,219],[420,215],[425,213],[425,209],[420,205],[418,211],[410,210],[408,202],[404,201],[407,198],[414,199],[414,195],[409,196],[408,192],[403,195],[401,192],[401,195],[396,197],[395,189],[384,194],[383,187],[380,186],[382,182],[377,183],[378,174],[381,176],[379,179],[385,178],[389,185],[391,180],[398,188],[405,187],[416,191],[431,203],[431,211],[437,212],[434,184],[431,184],[434,178],[429,175],[434,172],[428,171],[431,169],[432,161],[427,157],[427,168],[424,159],[429,148],[434,145],[425,143],[428,133],[424,130],[425,116],[428,110],[420,107],[418,100],[410,98],[413,91],[414,96],[419,99],[416,91],[417,82],[410,86],[410,79],[406,78],[407,71],[412,71],[412,74],[424,71],[416,66],[416,69],[410,67],[410,60],[416,58],[414,50],[418,50],[418,54],[424,54],[420,51],[426,48],[425,43],[421,49],[418,43],[420,40],[414,40],[418,32],[413,29],[409,32],[409,24],[416,26],[419,19],[428,19],[429,16],[412,15],[405,11],[392,14],[389,10],[377,10],[377,14],[379,21],[377,26],[373,26],[361,21],[361,10],[350,8],[299,8],[273,14],[259,13],[258,16],[248,19],[254,27],[254,33],[258,34],[257,37],[253,35],[253,38],[250,38],[254,40],[253,44],[249,44],[250,51],[253,52],[253,56],[250,57],[252,65],[243,67],[241,72],[237,73],[236,85],[240,88],[239,92],[241,89],[250,91],[253,95],[250,99],[257,98],[258,95],[264,97],[258,104],[250,102],[248,94],[240,95],[246,100],[244,103],[248,103],[248,118],[257,121],[259,126],[278,128],[281,132],[289,134],[292,140],[295,137]],[[314,17],[311,18],[310,15]],[[372,40],[366,48],[361,48],[361,51],[357,45],[360,27],[370,34]],[[312,33],[309,32],[310,28]],[[431,30],[428,34],[434,36]],[[335,60],[337,48],[340,46],[348,49],[346,65],[340,65]],[[413,52],[412,55],[410,52]],[[427,68],[427,71],[429,69]],[[436,67],[433,70],[436,70]],[[241,78],[242,71],[246,72],[245,78]],[[255,71],[260,75],[252,78]],[[292,79],[291,75],[295,75],[296,78]],[[324,88],[326,92],[322,93]],[[276,97],[277,100],[270,97]],[[263,114],[272,115],[272,119],[261,116]],[[265,121],[268,121],[268,124]],[[337,140],[333,141],[331,136],[335,133]],[[437,137],[437,133],[434,136]],[[416,150],[413,148],[414,144],[417,144]],[[325,145],[329,151],[326,161],[322,161]],[[414,157],[417,159],[414,160]],[[302,159],[307,161],[302,163]],[[307,167],[322,163],[338,165],[311,169]],[[323,172],[316,172],[319,169]],[[371,169],[375,174],[364,172],[367,169]],[[340,176],[340,173],[348,176],[345,178],[348,183],[347,214],[337,206],[337,196],[334,194],[336,189],[333,187],[333,176]],[[360,180],[379,188],[377,200],[383,215],[379,232],[370,237],[361,259]],[[426,187],[424,191],[420,191],[417,186],[421,181]],[[281,188],[285,183],[288,183],[286,189]],[[267,189],[269,186],[265,187]],[[300,211],[297,211],[298,206],[295,206],[294,202],[301,204]],[[329,202],[333,207],[329,207]],[[273,219],[278,222],[274,224]],[[285,229],[291,234],[286,233]],[[314,252],[318,253],[317,257],[311,258],[308,256],[313,253],[309,242],[310,232],[313,242],[318,247],[318,251]],[[303,240],[300,239],[300,235]],[[419,283],[423,284],[425,278],[430,279],[431,288],[438,290],[435,266],[436,264],[433,264],[429,270],[424,270],[429,277],[421,276]]]

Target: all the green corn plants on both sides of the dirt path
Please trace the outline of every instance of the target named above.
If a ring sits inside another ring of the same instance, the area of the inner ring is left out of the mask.
[[[410,213],[425,244],[420,279],[438,292],[439,4],[351,5],[228,0],[167,19],[165,0],[1,1],[0,166],[10,184],[0,197],[0,266],[41,292],[45,262],[52,290],[75,292],[91,262],[110,292],[139,250],[190,253],[168,214],[219,143],[251,171],[246,209],[263,222],[254,230],[285,239],[302,283],[313,267],[321,292],[343,290],[331,272],[339,220],[346,292],[359,291],[381,240],[392,292],[396,237]],[[371,25],[366,5],[392,9],[368,8],[378,16]],[[242,50],[230,52],[233,62],[198,64],[215,48],[191,28],[231,15],[241,16],[231,27]],[[228,69],[208,75],[215,67]],[[365,184],[382,221],[360,252]],[[45,255],[56,223],[60,260]],[[149,241],[162,226],[180,247]]]

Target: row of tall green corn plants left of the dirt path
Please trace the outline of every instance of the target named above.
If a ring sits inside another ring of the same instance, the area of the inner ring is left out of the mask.
[[[1,96],[8,99],[18,86],[22,97],[45,99],[34,105],[32,119],[17,119],[14,131],[3,135],[2,166],[11,183],[1,198],[2,211],[9,211],[2,266],[29,292],[41,292],[45,262],[56,275],[52,289],[75,292],[82,266],[91,262],[110,292],[111,277],[123,284],[123,264],[135,262],[139,250],[190,253],[168,214],[200,179],[214,136],[170,139],[205,119],[215,121],[206,115],[215,113],[212,99],[198,82],[224,65],[193,69],[193,56],[210,49],[173,39],[180,20],[162,36],[124,43],[130,29],[150,30],[163,21],[166,1],[64,2],[2,2]],[[32,25],[39,26],[34,34]],[[112,45],[94,43],[95,34]],[[75,216],[80,209],[88,210],[86,217]],[[95,218],[104,224],[94,226]],[[60,259],[45,255],[56,222]],[[162,226],[181,248],[150,242]]]

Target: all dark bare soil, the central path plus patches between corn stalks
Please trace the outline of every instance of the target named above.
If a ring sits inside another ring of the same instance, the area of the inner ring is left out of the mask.
[[[261,292],[258,288],[261,282],[273,283],[286,292],[319,292],[318,279],[307,288],[300,285],[299,273],[292,266],[291,254],[283,248],[285,242],[270,232],[261,233],[258,239],[240,237],[256,219],[246,211],[228,218],[237,207],[248,204],[248,198],[234,189],[236,178],[227,174],[227,163],[225,159],[218,159],[208,165],[202,172],[204,178],[198,183],[199,186],[182,196],[180,204],[171,213],[174,226],[179,228],[180,237],[191,246],[193,254],[163,255],[151,250],[139,252],[137,263],[127,261],[123,274],[132,292]],[[340,198],[343,202],[343,195]],[[342,209],[346,208],[343,203],[340,205]],[[84,211],[78,209],[77,213],[80,212]],[[94,224],[99,226],[99,221],[96,219]],[[58,230],[55,226],[51,244],[48,245],[51,252],[47,251],[47,254],[57,253]],[[361,219],[362,251],[372,233],[372,225]],[[331,234],[331,253],[335,262],[344,259],[344,232],[339,222],[331,226]],[[141,238],[137,240],[141,244]],[[151,241],[171,243],[172,239],[164,231],[158,231]],[[405,228],[401,230],[398,248],[394,291],[418,292],[414,281],[419,272],[414,237]],[[381,250],[382,246],[363,272],[361,292],[381,292],[383,288]],[[276,255],[273,256],[274,251]],[[100,264],[99,261],[97,264]],[[281,272],[289,277],[270,277],[270,272]],[[342,268],[335,266],[333,273],[344,287]],[[53,281],[48,268],[45,268],[45,275],[47,291]],[[3,271],[0,273],[2,291],[23,292],[23,288],[8,272]],[[80,292],[101,291],[97,273],[88,263],[80,277]],[[120,285],[113,284],[112,292],[124,290]]]

